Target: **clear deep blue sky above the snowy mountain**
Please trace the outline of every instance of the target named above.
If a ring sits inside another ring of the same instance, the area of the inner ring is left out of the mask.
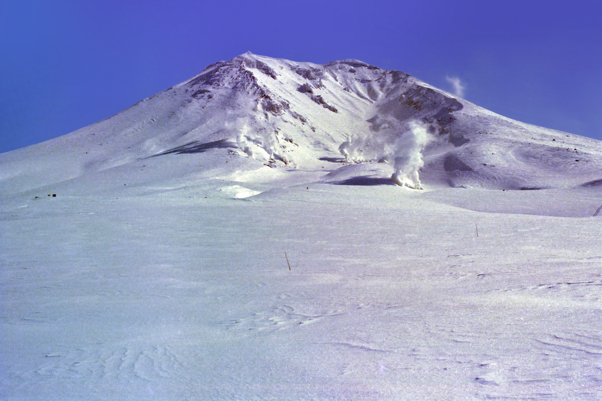
[[[246,51],[402,70],[602,139],[594,1],[2,0],[0,152],[106,118]]]

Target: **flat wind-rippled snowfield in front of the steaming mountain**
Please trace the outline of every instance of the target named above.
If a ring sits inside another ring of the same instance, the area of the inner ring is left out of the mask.
[[[368,184],[6,204],[2,399],[602,397],[599,186]]]

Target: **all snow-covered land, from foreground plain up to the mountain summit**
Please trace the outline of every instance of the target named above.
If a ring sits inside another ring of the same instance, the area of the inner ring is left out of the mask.
[[[594,139],[247,53],[0,182],[2,399],[602,396]]]

